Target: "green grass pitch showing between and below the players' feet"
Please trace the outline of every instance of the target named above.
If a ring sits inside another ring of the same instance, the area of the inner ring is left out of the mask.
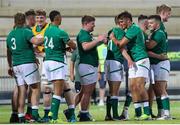
[[[123,102],[119,103],[119,114],[122,111]],[[63,115],[63,109],[67,108],[65,104],[61,105],[60,111],[59,111],[59,117],[62,118],[65,121],[65,117]],[[129,121],[104,121],[105,117],[105,106],[95,106],[91,105],[90,107],[90,113],[92,114],[93,118],[96,120],[95,122],[81,122],[85,124],[178,124],[180,123],[180,101],[172,101],[171,102],[171,115],[175,117],[175,120],[166,120],[166,121],[135,121],[133,120],[134,116],[134,107],[133,105],[130,106],[129,109],[129,115],[130,120]],[[154,103],[153,105],[153,112],[154,114],[157,113],[156,111],[156,105]],[[11,114],[11,107],[10,105],[0,105],[0,123],[9,123],[9,117]],[[78,109],[76,109],[76,114],[78,114]],[[40,106],[40,115],[43,116],[43,107]],[[80,124],[80,122],[77,122],[77,124]]]

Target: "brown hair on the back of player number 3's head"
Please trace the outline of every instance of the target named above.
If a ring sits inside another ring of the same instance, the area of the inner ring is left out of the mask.
[[[17,26],[17,25],[22,26],[22,25],[25,24],[25,22],[26,22],[26,18],[25,18],[25,14],[24,14],[24,13],[18,12],[18,13],[16,13],[16,14],[14,15],[14,23],[15,23],[15,26]]]

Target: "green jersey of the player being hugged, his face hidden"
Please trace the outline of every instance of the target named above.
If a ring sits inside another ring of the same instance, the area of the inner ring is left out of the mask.
[[[112,32],[114,33],[114,36],[117,40],[121,40],[125,35],[124,30],[118,27],[113,28]],[[112,40],[108,42],[108,53],[107,53],[106,60],[116,60],[121,63],[123,63],[123,60],[124,60],[119,47],[117,47]]]

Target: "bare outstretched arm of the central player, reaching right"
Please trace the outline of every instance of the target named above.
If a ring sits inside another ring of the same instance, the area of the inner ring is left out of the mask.
[[[107,40],[107,37],[106,37],[105,34],[99,35],[96,40],[93,40],[93,41],[91,41],[91,42],[86,42],[86,41],[84,41],[84,42],[82,43],[82,47],[83,47],[84,51],[88,51],[88,50],[94,48],[95,46],[97,46],[97,45],[99,45],[99,44],[101,44],[101,43],[103,43],[103,42],[106,42],[106,40]],[[103,42],[102,42],[102,41],[103,41]]]

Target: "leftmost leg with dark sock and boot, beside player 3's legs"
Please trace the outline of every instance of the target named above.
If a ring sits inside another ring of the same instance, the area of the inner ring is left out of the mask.
[[[18,123],[18,87],[15,86],[11,99],[12,113],[10,117],[10,123]]]

